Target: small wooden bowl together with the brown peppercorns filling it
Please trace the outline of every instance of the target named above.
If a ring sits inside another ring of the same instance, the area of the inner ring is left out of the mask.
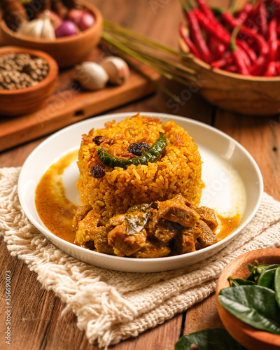
[[[45,52],[0,48],[0,115],[21,116],[45,106],[55,90],[58,66]]]

